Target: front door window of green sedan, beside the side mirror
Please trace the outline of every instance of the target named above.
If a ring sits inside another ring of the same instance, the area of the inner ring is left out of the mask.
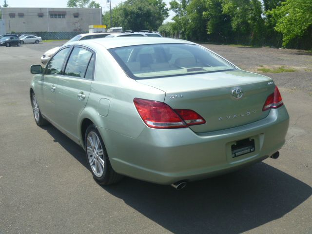
[[[61,74],[64,60],[69,53],[70,47],[60,50],[52,59],[49,60],[45,68],[45,74],[59,75]]]

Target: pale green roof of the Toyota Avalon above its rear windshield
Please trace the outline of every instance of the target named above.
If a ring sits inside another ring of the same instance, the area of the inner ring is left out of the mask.
[[[148,44],[195,44],[191,41],[171,38],[156,37],[115,37],[115,38],[99,38],[91,40],[73,41],[66,45],[78,44],[90,47],[102,46],[106,49],[125,47],[132,45],[148,45]]]

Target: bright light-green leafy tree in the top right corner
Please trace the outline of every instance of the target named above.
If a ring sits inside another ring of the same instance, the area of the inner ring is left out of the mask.
[[[275,30],[283,34],[283,46],[287,46],[292,39],[302,37],[311,30],[311,0],[286,0],[268,14],[272,14],[276,20]],[[312,41],[311,35],[308,37]]]

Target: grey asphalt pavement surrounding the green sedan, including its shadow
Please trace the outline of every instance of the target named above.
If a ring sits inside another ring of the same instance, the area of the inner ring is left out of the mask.
[[[276,160],[181,191],[129,177],[102,187],[84,151],[55,127],[38,127],[33,117],[30,66],[62,43],[0,47],[0,234],[312,234],[309,91],[279,86],[291,122]],[[229,51],[240,53],[238,47],[214,48],[226,58]],[[311,75],[304,74],[310,81]]]

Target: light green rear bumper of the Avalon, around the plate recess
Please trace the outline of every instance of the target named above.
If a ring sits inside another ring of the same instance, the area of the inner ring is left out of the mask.
[[[285,143],[289,115],[285,106],[272,109],[257,122],[227,130],[195,134],[189,128],[146,127],[130,138],[98,128],[117,173],[159,184],[198,180],[225,174],[259,162]],[[233,158],[231,145],[253,138],[255,151]]]

